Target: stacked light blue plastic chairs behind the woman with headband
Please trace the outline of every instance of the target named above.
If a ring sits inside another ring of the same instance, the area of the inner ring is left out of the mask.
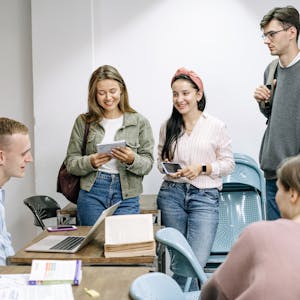
[[[246,226],[265,220],[265,181],[253,158],[235,153],[235,169],[223,178],[220,193],[219,225],[211,255],[205,267],[207,273],[226,259],[233,244]]]

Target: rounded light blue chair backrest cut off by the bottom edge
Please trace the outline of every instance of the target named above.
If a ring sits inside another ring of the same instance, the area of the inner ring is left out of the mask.
[[[133,300],[184,300],[177,282],[170,276],[152,272],[139,276],[130,286]]]

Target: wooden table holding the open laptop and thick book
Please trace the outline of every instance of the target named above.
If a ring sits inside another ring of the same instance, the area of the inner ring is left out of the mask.
[[[165,264],[161,262],[164,260],[164,253],[159,252],[159,257],[153,256],[136,256],[136,257],[114,257],[106,258],[104,257],[104,224],[102,230],[96,239],[91,241],[88,245],[83,247],[77,253],[50,253],[50,252],[27,252],[25,248],[32,245],[33,243],[39,241],[47,235],[86,235],[91,227],[89,226],[79,226],[75,231],[62,231],[62,232],[47,232],[44,231],[39,234],[35,239],[33,239],[24,248],[19,250],[14,256],[8,258],[9,264],[31,264],[33,259],[81,259],[84,265],[119,265],[119,266],[147,266],[152,267],[153,270],[159,270],[165,272]],[[158,226],[154,225],[154,231],[156,231]]]

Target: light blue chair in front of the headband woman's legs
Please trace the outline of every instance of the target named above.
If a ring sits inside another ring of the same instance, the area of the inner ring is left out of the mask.
[[[200,291],[188,292],[192,278],[197,278],[201,285],[207,280],[194,251],[183,234],[175,228],[166,227],[155,234],[155,239],[167,247],[170,253],[170,269],[173,273],[187,277],[184,292],[191,299],[199,299]]]

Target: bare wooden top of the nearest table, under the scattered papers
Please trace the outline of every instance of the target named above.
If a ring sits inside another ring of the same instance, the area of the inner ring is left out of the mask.
[[[28,274],[30,266],[0,266],[0,274]],[[83,277],[79,286],[73,286],[75,300],[128,300],[131,283],[142,274],[148,273],[145,267],[83,267]],[[94,289],[100,297],[91,298],[84,288]]]

